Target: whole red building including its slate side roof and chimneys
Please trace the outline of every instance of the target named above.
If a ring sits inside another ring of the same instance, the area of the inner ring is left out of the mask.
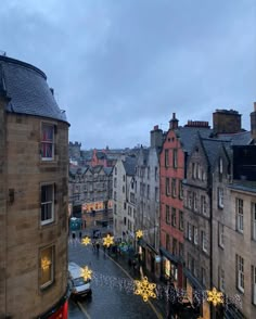
[[[212,132],[207,122],[189,120],[179,126],[175,113],[169,122],[159,156],[159,202],[162,271],[166,280],[183,288],[184,261],[184,208],[182,180],[187,177],[187,162],[200,131],[208,137]]]

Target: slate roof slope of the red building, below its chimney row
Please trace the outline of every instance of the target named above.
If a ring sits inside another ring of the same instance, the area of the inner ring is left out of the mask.
[[[213,129],[201,127],[179,127],[176,130],[176,135],[180,138],[183,151],[188,154],[191,154],[194,142],[197,139],[199,132],[202,138],[208,138],[213,132]]]

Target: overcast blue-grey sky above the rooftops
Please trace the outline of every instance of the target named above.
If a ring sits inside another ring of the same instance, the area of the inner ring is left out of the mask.
[[[0,50],[41,68],[82,149],[256,101],[255,0],[1,0]]]

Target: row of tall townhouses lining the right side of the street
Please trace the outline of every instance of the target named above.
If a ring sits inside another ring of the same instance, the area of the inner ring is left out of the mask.
[[[155,126],[150,148],[113,169],[115,237],[135,240],[142,230],[146,270],[185,289],[203,318],[256,317],[255,141],[256,103],[251,131],[233,110],[217,110],[213,129],[179,126],[172,114],[167,132]],[[226,307],[213,310],[203,298],[213,288]]]

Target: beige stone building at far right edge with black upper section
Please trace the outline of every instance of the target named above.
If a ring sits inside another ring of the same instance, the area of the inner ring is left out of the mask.
[[[219,152],[213,175],[213,284],[228,318],[256,317],[256,103],[252,128]]]

